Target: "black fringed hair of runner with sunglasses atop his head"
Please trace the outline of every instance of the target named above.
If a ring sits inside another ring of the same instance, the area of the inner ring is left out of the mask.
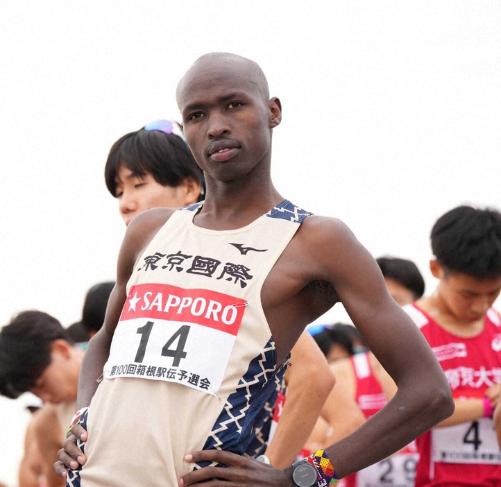
[[[176,134],[160,130],[136,130],[120,137],[112,145],[104,169],[108,191],[117,197],[117,176],[120,166],[125,166],[135,176],[151,173],[160,185],[176,187],[186,178],[193,178],[205,194],[203,171],[185,142]]]

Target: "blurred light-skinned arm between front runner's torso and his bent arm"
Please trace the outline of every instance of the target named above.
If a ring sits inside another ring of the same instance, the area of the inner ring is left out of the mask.
[[[308,332],[303,332],[294,345],[291,364],[285,373],[287,398],[284,409],[266,449],[271,465],[277,468],[294,462],[335,382],[327,360]]]

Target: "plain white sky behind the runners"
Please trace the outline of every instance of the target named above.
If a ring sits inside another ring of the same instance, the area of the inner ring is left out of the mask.
[[[255,60],[280,97],[282,195],[341,218],[375,257],[414,259],[431,292],[434,221],[501,207],[500,21],[499,1],[477,0],[2,1],[0,326],[23,309],[69,325],[114,279],[110,146],[179,119],[176,84],[210,51]],[[5,422],[0,481],[14,486]]]

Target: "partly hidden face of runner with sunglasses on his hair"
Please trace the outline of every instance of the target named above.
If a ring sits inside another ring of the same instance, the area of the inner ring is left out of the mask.
[[[151,173],[135,176],[125,166],[119,167],[116,182],[115,196],[119,200],[119,211],[126,225],[134,216],[149,208],[178,208],[195,203],[186,199],[183,185],[164,186],[155,180]]]

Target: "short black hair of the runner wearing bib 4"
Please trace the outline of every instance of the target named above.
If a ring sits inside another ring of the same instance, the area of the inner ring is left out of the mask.
[[[446,271],[477,279],[501,277],[501,213],[459,206],[433,225],[432,251]]]

